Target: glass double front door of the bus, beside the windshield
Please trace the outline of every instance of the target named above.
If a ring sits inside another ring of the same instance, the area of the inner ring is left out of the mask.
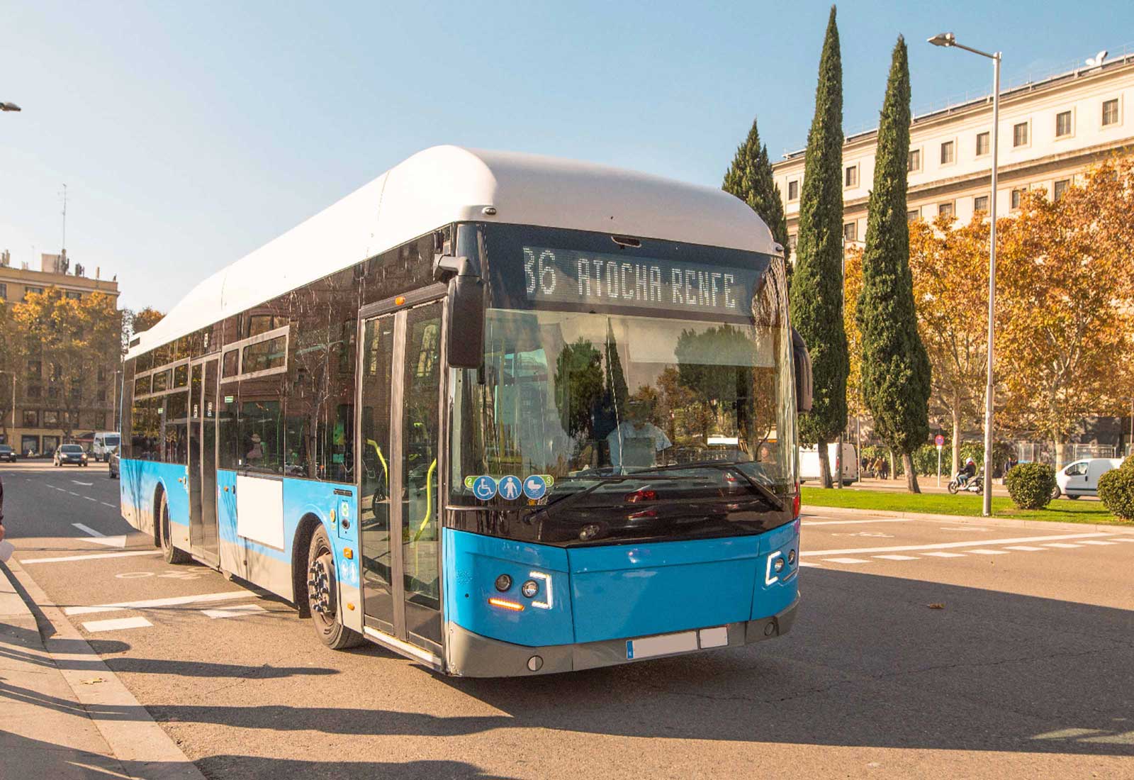
[[[441,304],[363,322],[359,449],[366,624],[441,648]]]

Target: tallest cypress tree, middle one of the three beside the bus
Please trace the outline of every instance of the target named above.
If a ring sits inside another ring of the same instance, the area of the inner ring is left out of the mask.
[[[811,412],[799,417],[799,440],[818,444],[820,477],[830,488],[827,443],[847,424],[850,371],[843,328],[843,63],[833,6],[819,59],[795,253],[792,324],[807,342],[814,382]]]

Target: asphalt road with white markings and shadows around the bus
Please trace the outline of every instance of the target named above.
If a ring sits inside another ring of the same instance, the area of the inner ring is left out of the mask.
[[[1134,778],[1134,534],[805,516],[786,637],[472,680],[167,566],[104,466],[0,473],[20,566],[210,778]]]

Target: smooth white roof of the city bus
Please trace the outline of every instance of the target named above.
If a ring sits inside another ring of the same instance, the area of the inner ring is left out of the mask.
[[[720,189],[536,154],[433,146],[202,281],[127,357],[462,221],[777,252],[756,213]]]

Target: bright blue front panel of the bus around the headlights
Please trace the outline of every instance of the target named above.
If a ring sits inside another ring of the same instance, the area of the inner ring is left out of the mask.
[[[752,536],[567,550],[447,528],[448,619],[534,647],[765,618],[796,599],[798,561],[787,558],[798,533],[796,522]],[[503,591],[500,575],[510,580]],[[532,597],[527,580],[538,585]]]

